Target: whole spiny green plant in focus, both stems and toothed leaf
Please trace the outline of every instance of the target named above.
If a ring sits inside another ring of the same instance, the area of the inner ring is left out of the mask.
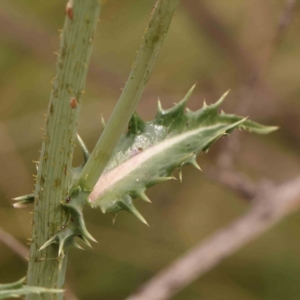
[[[196,161],[197,155],[207,152],[215,141],[236,128],[260,134],[276,129],[240,116],[218,113],[227,93],[213,105],[204,103],[195,112],[185,111],[194,87],[171,109],[164,110],[159,102],[157,115],[150,122],[144,122],[134,113],[177,3],[178,0],[157,1],[137,59],[107,127],[91,155],[81,138],[77,137],[83,150],[84,163],[72,168],[86,64],[90,57],[100,6],[96,1],[85,6],[84,1],[78,0],[74,7],[72,2],[68,2],[68,17],[62,35],[35,193],[14,199],[17,201],[15,207],[22,207],[35,200],[32,233],[34,242],[30,250],[28,271],[28,282],[32,285],[62,286],[66,269],[65,249],[69,246],[81,248],[75,242],[75,237],[81,238],[88,246],[89,240],[96,241],[85,226],[82,211],[86,204],[100,208],[103,213],[111,213],[113,221],[120,211],[125,210],[147,224],[135,208],[133,200],[139,198],[151,202],[146,196],[149,187],[174,179],[176,170],[179,170],[179,178],[182,179],[181,169],[186,164],[200,169]],[[76,20],[80,22],[77,21],[77,24]],[[78,31],[75,25],[78,26]],[[88,33],[86,26],[89,27]],[[81,47],[73,44],[73,38]],[[128,130],[124,134],[127,124]],[[60,228],[56,232],[58,227]],[[45,242],[46,239],[48,240]],[[43,245],[40,247],[41,244]],[[58,245],[59,259],[52,262],[41,260],[37,265],[37,257],[53,256],[55,249],[48,248],[52,244]],[[38,249],[46,250],[41,253]],[[56,275],[51,276],[52,273]],[[48,282],[47,278],[51,278],[52,282]],[[19,294],[24,294],[43,292],[45,288],[21,284],[17,290]],[[9,295],[17,294],[15,289],[11,289]]]

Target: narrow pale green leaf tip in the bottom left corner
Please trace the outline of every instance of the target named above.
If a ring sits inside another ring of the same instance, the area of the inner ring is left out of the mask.
[[[0,299],[19,298],[27,294],[41,294],[41,293],[62,293],[64,290],[47,289],[37,286],[24,285],[25,278],[19,281],[0,284]]]

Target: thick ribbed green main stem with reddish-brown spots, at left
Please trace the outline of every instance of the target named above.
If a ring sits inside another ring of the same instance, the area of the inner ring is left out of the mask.
[[[74,0],[67,5],[35,188],[28,285],[64,285],[67,257],[57,258],[56,245],[42,251],[39,248],[61,229],[66,219],[61,201],[68,194],[79,110],[99,12],[97,0]],[[40,297],[27,295],[26,299]],[[57,294],[43,295],[47,300],[62,298]]]

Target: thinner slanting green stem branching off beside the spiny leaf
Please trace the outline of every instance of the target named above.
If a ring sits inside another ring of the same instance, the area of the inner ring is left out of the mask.
[[[157,1],[145,30],[143,42],[119,101],[101,135],[80,178],[71,192],[81,187],[91,192],[106,167],[121,135],[126,130],[138,101],[150,77],[156,58],[169,29],[178,0]]]

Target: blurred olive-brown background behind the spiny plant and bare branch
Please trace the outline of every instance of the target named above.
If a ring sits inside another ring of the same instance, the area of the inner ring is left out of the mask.
[[[30,208],[10,198],[33,190],[45,126],[54,52],[66,1],[0,3],[0,227],[26,245]],[[154,117],[197,82],[190,109],[216,101],[229,88],[226,112],[242,113],[280,130],[243,133],[233,152],[239,172],[280,183],[299,173],[300,11],[296,1],[182,0],[157,65],[138,106]],[[90,149],[129,74],[154,0],[108,0],[101,11],[84,96],[79,133]],[[136,201],[150,228],[122,213],[115,225],[86,209],[87,227],[99,241],[72,249],[67,281],[79,299],[124,299],[204,237],[247,212],[249,203],[206,175],[228,139],[199,158],[203,172],[186,167],[183,183],[149,190],[153,204]],[[238,149],[238,151],[237,151]],[[80,162],[79,153],[75,163]],[[225,259],[174,299],[299,299],[299,213]],[[24,276],[26,263],[0,243],[0,282]]]

